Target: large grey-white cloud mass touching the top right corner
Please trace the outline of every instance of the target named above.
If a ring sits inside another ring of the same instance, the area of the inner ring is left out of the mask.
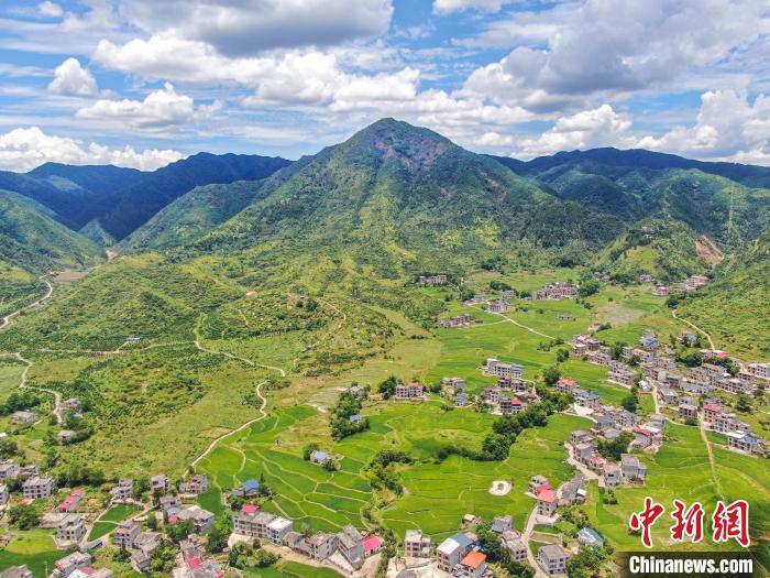
[[[769,25],[767,3],[755,0],[587,0],[514,13],[480,42],[524,44],[476,69],[463,88],[534,110],[574,99],[584,106],[588,97],[664,88],[748,46]]]

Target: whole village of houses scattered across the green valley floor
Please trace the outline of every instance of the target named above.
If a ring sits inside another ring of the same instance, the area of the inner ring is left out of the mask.
[[[640,277],[640,282],[653,280]],[[697,287],[705,282],[707,279],[695,276],[686,283]],[[443,285],[448,279],[426,276],[419,283]],[[654,291],[659,290],[656,286]],[[578,286],[568,281],[544,284],[524,298],[561,301],[576,295]],[[496,297],[476,294],[465,305],[504,314],[514,298],[516,292],[503,290]],[[561,314],[560,320],[570,317]],[[479,323],[463,313],[441,325],[469,328]],[[678,359],[674,343],[662,342],[651,329],[645,330],[636,345],[613,346],[595,334],[574,335],[565,343],[572,358],[606,367],[608,384],[627,390],[629,395],[651,399],[654,412],[605,404],[598,393],[591,391],[591,383],[579,383],[568,375],[547,382],[550,391],[570,400],[562,412],[586,418],[591,426],[573,430],[564,444],[564,461],[574,472],[570,480],[553,487],[547,477],[538,475],[526,488],[498,480],[490,489],[493,495],[516,491],[531,499],[532,510],[522,527],[515,527],[514,516],[501,511],[491,520],[469,513],[459,521],[457,533],[436,542],[420,530],[409,530],[397,536],[398,544],[388,544],[384,535],[352,524],[339,532],[312,532],[268,511],[270,491],[264,481],[248,479],[224,492],[222,500],[231,513],[222,530],[218,515],[199,503],[209,490],[207,473],[190,473],[176,481],[157,473],[147,483],[122,478],[111,484],[107,495],[102,486],[99,499],[89,502],[92,490],[57,488],[57,481],[43,468],[13,459],[0,462],[0,508],[8,516],[14,508],[18,513],[31,510],[33,504],[46,504],[47,511],[34,521],[34,527],[52,531],[56,547],[68,553],[55,563],[51,578],[110,578],[110,570],[99,568],[99,553],[105,547],[119,550],[116,556],[138,574],[151,574],[156,560],[165,559],[173,565],[176,578],[220,578],[240,555],[258,555],[266,564],[282,558],[298,560],[349,578],[374,577],[383,568],[389,578],[481,578],[495,576],[495,565],[499,564],[498,558],[490,558],[491,543],[499,544],[509,564],[529,566],[535,576],[563,576],[570,558],[580,556],[585,548],[604,547],[605,538],[590,526],[580,527],[571,536],[543,533],[542,528],[556,527],[564,515],[572,515],[568,513],[586,500],[592,482],[609,495],[624,486],[644,486],[648,481],[644,457],[659,451],[667,443],[667,424],[719,434],[732,451],[765,455],[761,437],[739,418],[735,406],[743,396],[755,395],[770,384],[770,363],[741,363],[726,351],[702,348],[700,336],[691,330],[681,331],[676,340],[680,349],[694,353],[686,363]],[[542,403],[540,381],[527,379],[521,364],[487,358],[477,370],[495,383],[471,393],[466,377],[444,377],[437,386],[398,380],[392,396],[374,394],[372,400],[420,403],[436,395],[453,410],[497,416],[516,416]],[[351,388],[354,395],[360,391],[358,385]],[[53,416],[58,424],[65,417],[66,423],[73,423],[81,418],[84,411],[80,400],[73,397],[56,405]],[[32,411],[11,415],[11,423],[22,426],[38,419],[41,416]],[[359,425],[366,416],[356,412],[348,419]],[[57,440],[67,444],[77,435],[76,429],[62,427]],[[0,435],[3,436],[7,437]],[[311,465],[331,470],[336,459],[321,448],[312,449],[306,457]],[[116,522],[110,532],[89,539],[101,513],[117,506],[130,508],[130,515]],[[10,534],[2,539],[10,539]],[[383,563],[388,546],[397,549]],[[33,574],[25,566],[16,566],[4,569],[0,576],[32,578]]]

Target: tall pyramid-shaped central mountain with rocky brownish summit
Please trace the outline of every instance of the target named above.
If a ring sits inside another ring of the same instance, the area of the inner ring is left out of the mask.
[[[265,179],[251,205],[194,247],[318,248],[398,276],[479,264],[522,239],[598,247],[617,236],[616,223],[440,134],[383,119]]]

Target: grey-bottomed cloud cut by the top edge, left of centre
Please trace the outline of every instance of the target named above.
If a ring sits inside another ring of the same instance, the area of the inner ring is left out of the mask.
[[[120,11],[151,34],[170,31],[206,42],[221,54],[242,56],[385,34],[393,4],[391,0],[122,0]]]

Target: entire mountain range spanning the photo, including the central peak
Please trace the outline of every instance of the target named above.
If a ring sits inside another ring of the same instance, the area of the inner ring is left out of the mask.
[[[674,280],[770,229],[769,183],[768,167],[644,150],[480,155],[383,119],[294,163],[200,153],[152,173],[51,163],[0,173],[16,215],[0,233],[3,259],[34,270],[91,262],[96,244],[191,255],[272,243],[345,254],[385,276],[529,252]],[[36,257],[13,259],[21,246]]]

